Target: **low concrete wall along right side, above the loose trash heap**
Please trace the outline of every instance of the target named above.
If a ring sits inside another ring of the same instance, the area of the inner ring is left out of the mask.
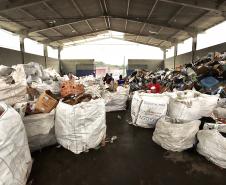
[[[211,52],[225,52],[225,51],[226,51],[226,43],[222,43],[222,44],[218,44],[218,45],[204,48],[201,50],[197,50],[195,58],[202,58]],[[166,59],[164,63],[165,68],[173,68],[174,67],[173,61],[174,61],[173,57]],[[192,61],[192,52],[178,55],[176,57],[176,66],[188,64],[188,63],[191,63],[191,61]]]

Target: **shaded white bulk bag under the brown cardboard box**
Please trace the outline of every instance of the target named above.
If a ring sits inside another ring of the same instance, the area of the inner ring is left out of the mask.
[[[31,151],[56,144],[54,121],[55,110],[50,113],[25,116],[23,121],[26,128],[28,143]]]

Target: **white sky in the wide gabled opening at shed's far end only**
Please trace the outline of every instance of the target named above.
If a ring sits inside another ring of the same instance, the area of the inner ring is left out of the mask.
[[[65,48],[61,56],[63,59],[95,59],[122,65],[128,59],[163,59],[163,52],[156,47],[109,38]]]

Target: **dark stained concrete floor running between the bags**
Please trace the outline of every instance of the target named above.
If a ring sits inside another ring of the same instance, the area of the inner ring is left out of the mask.
[[[226,184],[226,170],[195,150],[162,149],[152,141],[152,129],[128,125],[129,119],[129,111],[107,114],[107,134],[118,140],[99,150],[74,155],[54,146],[33,153],[32,185]]]

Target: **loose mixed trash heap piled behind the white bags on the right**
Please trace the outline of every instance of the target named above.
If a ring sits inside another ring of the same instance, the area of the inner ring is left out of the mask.
[[[130,91],[147,90],[156,79],[161,92],[196,90],[205,94],[226,97],[226,54],[214,53],[174,70],[135,70],[129,77]]]

